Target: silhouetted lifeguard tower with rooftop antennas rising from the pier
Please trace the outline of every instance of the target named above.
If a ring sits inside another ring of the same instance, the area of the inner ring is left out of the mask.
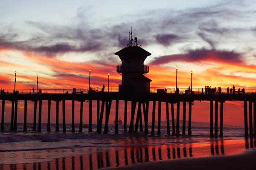
[[[145,77],[145,74],[149,72],[149,66],[144,65],[144,61],[151,53],[138,46],[137,37],[134,38],[133,43],[132,28],[129,32],[127,47],[115,54],[122,61],[121,65],[116,66],[116,72],[122,76],[122,85],[119,85],[119,91],[129,89],[150,92],[150,82],[152,80]]]

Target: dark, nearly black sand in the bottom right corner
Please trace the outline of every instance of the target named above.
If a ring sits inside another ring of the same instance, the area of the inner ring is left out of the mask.
[[[255,170],[256,149],[229,156],[207,156],[132,164],[124,167],[104,168],[114,170]]]

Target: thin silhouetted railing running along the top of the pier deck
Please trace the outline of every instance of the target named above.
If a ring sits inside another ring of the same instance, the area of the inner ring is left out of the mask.
[[[235,94],[238,94],[238,89],[236,88]],[[241,90],[243,88],[240,88],[240,94],[242,93]],[[150,93],[167,93],[167,94],[174,94],[175,93],[175,88],[158,88],[158,87],[150,87],[150,88],[145,88],[145,87],[134,87],[133,91],[149,91]],[[180,94],[185,94],[185,93],[191,93],[191,91],[188,91],[188,88],[180,88]],[[204,94],[205,94],[205,89]],[[218,89],[217,89],[218,90]],[[36,90],[33,93],[32,89],[17,89],[18,94],[36,94]],[[93,92],[101,92],[102,87],[96,87],[93,88]],[[104,92],[118,92],[119,87],[105,87]],[[13,93],[13,90],[10,89],[5,89],[5,94],[8,92],[9,94]],[[73,89],[41,89],[41,94],[73,94]],[[202,94],[202,88],[193,88],[192,93],[194,94]],[[218,94],[218,91],[215,92]],[[229,92],[230,93],[230,92]],[[246,94],[251,94],[255,93],[256,94],[256,88],[244,88],[244,93]],[[38,90],[39,94],[39,90]],[[88,89],[76,89],[76,94],[88,94]],[[227,94],[227,88],[222,88],[221,94]],[[233,90],[232,90],[233,94]]]

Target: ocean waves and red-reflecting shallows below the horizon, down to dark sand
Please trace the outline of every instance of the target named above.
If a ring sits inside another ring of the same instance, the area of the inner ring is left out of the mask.
[[[55,124],[51,124],[52,132],[47,132],[47,124],[42,124],[41,133],[33,132],[32,126],[28,123],[27,132],[23,132],[23,123],[18,123],[17,132],[10,132],[10,124],[5,124],[5,131],[0,132],[0,170],[94,170],[146,161],[231,155],[256,146],[253,139],[244,139],[244,128],[239,127],[224,127],[223,138],[210,139],[209,127],[192,127],[192,136],[177,138],[166,135],[166,126],[161,126],[161,136],[123,133],[123,126],[119,126],[119,134],[114,134],[114,125],[108,126],[108,134],[97,134],[96,125],[93,133],[88,133],[88,125],[83,125],[83,133],[71,133],[71,124],[66,125],[67,133],[62,133],[61,125],[60,132],[55,132]],[[79,125],[75,127],[78,131]]]

